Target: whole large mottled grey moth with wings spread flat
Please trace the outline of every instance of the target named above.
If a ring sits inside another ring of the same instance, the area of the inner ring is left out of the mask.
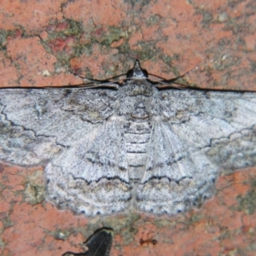
[[[0,159],[45,164],[47,198],[88,216],[177,214],[256,165],[256,94],[177,89],[138,61],[123,83],[1,89]]]

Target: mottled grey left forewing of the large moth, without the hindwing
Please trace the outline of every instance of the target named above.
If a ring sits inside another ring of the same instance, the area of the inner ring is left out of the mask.
[[[0,159],[34,165],[114,113],[116,91],[1,89]]]

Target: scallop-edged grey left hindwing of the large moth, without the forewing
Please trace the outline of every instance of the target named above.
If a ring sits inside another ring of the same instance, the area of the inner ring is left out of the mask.
[[[131,188],[122,129],[113,117],[57,155],[45,168],[50,201],[86,215],[128,207]]]

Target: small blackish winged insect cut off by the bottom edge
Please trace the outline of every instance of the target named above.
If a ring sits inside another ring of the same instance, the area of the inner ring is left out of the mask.
[[[96,230],[85,242],[84,246],[88,250],[84,253],[63,253],[62,256],[108,256],[112,247],[113,230],[109,228],[102,228]]]

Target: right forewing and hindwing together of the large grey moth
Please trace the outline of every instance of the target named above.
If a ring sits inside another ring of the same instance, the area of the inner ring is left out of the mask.
[[[218,170],[256,165],[255,109],[249,92],[161,91],[138,207],[183,212],[212,195]]]

